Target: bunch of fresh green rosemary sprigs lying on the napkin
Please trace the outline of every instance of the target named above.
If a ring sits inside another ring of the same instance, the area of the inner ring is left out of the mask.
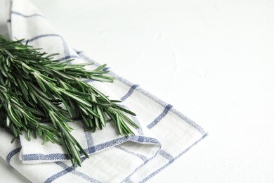
[[[138,126],[127,114],[135,114],[83,81],[113,82],[105,75],[105,65],[86,70],[91,63],[67,64],[71,60],[54,60],[55,54],[46,56],[21,42],[0,34],[0,126],[11,129],[15,139],[25,131],[28,140],[38,134],[44,142],[63,145],[75,167],[81,165],[81,153],[88,154],[70,134],[67,122],[83,120],[85,130],[95,132],[112,121],[119,134],[133,134],[127,123]]]

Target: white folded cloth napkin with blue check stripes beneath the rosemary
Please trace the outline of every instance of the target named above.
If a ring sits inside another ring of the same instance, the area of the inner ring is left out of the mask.
[[[35,48],[47,53],[60,53],[60,60],[73,58],[72,63],[92,62],[81,51],[75,51],[28,0],[8,1],[8,29],[11,39],[28,39]],[[136,113],[132,120],[140,126],[131,137],[119,136],[112,122],[96,133],[84,132],[83,123],[70,122],[72,135],[90,157],[81,158],[75,170],[62,146],[42,139],[27,141],[25,134],[13,144],[13,135],[0,129],[0,156],[32,182],[145,182],[157,175],[207,136],[202,128],[173,106],[125,80],[110,70],[115,82],[86,80],[110,99]]]

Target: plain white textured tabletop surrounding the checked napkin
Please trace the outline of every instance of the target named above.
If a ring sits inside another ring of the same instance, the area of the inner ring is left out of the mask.
[[[209,133],[149,182],[274,182],[274,1],[32,2],[74,48]],[[4,0],[0,13],[6,34]],[[28,181],[1,159],[0,182]]]

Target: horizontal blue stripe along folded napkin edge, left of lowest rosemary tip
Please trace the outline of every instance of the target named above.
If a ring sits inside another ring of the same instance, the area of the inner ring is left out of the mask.
[[[68,160],[69,156],[65,153],[51,153],[51,154],[23,154],[22,160]]]

